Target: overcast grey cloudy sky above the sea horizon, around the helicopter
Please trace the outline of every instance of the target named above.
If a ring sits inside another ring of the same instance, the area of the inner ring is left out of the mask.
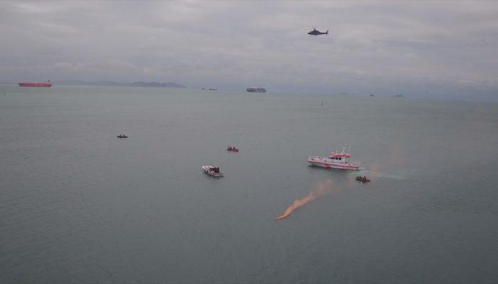
[[[0,1],[0,82],[498,102],[497,15],[498,1]]]

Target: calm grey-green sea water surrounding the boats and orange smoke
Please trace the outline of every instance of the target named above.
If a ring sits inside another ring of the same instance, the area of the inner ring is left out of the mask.
[[[497,130],[497,104],[2,85],[0,282],[497,283]],[[360,173],[307,165],[344,143]]]

